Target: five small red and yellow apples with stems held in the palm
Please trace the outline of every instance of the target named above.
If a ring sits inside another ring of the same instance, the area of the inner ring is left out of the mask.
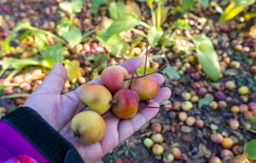
[[[106,126],[101,115],[109,109],[118,118],[133,118],[138,107],[145,107],[139,106],[139,102],[155,97],[159,91],[159,84],[151,74],[144,71],[143,76],[129,78],[127,70],[116,65],[103,70],[103,85],[91,83],[80,90],[79,100],[90,111],[80,112],[72,119],[71,130],[75,137],[84,144],[101,141]]]

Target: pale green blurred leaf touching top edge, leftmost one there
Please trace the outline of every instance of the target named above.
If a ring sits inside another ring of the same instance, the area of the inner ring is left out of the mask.
[[[61,2],[59,3],[59,7],[69,13],[81,12],[83,7],[83,1],[75,0],[73,2]]]

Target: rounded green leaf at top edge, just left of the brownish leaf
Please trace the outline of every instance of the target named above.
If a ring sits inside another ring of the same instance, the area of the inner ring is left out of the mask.
[[[112,19],[118,19],[126,12],[126,6],[124,2],[111,2],[109,4],[109,14]]]

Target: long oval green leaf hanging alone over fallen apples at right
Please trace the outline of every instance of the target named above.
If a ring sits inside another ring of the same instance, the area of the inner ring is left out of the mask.
[[[204,72],[213,80],[220,79],[220,63],[212,41],[204,34],[197,35],[193,42],[197,48],[197,58]]]

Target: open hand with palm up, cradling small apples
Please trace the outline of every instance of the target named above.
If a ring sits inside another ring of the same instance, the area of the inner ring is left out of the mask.
[[[132,58],[122,62],[120,66],[126,68],[131,74],[141,66],[141,60]],[[157,78],[159,85],[164,83],[164,76],[161,74],[154,74],[154,76]],[[159,111],[156,108],[144,108],[138,111],[134,118],[128,120],[122,120],[111,111],[108,111],[103,116],[106,122],[106,130],[101,142],[84,145],[74,138],[70,129],[71,119],[82,109],[78,101],[78,93],[84,85],[61,95],[66,80],[67,72],[63,65],[55,64],[43,83],[25,101],[24,106],[31,107],[37,111],[46,122],[71,142],[86,163],[94,163],[101,159],[146,122],[149,122]],[[88,83],[102,84],[100,76]],[[149,100],[148,106],[159,107],[159,104],[169,99],[170,96],[171,91],[169,88],[161,88],[159,93]]]

